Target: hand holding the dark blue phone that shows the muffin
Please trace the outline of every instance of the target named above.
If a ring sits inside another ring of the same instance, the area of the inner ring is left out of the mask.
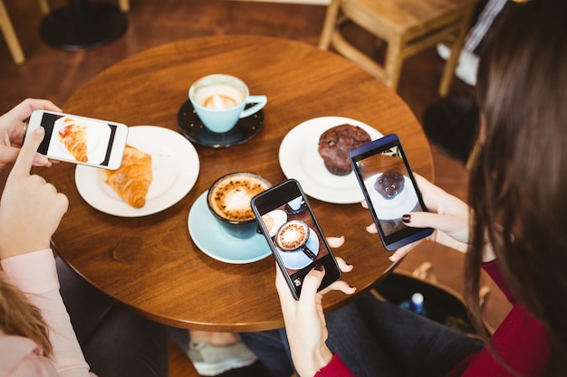
[[[431,184],[421,175],[414,175],[423,195],[423,201],[430,212],[408,213],[404,215],[404,223],[415,228],[433,228],[433,233],[426,240],[433,240],[452,249],[466,252],[470,233],[470,207],[435,184]],[[371,233],[377,232],[374,224],[368,226],[366,230]],[[420,242],[421,240],[399,248],[389,259],[398,261]]]

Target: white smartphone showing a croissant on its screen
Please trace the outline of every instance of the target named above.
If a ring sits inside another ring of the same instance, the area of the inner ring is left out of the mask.
[[[26,136],[37,127],[45,137],[37,151],[53,160],[116,170],[122,163],[128,127],[122,123],[34,110]]]

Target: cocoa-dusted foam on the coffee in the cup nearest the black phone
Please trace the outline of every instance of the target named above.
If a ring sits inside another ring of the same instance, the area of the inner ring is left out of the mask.
[[[262,193],[267,188],[267,184],[252,176],[230,176],[212,188],[209,204],[216,214],[226,220],[253,220],[255,217],[250,201],[256,193]]]

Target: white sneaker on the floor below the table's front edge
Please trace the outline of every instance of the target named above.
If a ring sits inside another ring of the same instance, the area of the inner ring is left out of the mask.
[[[243,368],[258,359],[240,340],[221,346],[190,341],[187,355],[202,376],[216,376],[231,369]]]

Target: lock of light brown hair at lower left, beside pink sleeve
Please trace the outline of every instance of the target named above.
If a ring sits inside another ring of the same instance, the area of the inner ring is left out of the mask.
[[[14,286],[5,281],[0,271],[0,328],[6,335],[29,338],[43,349],[45,356],[53,353],[49,329],[40,310],[32,305]]]

